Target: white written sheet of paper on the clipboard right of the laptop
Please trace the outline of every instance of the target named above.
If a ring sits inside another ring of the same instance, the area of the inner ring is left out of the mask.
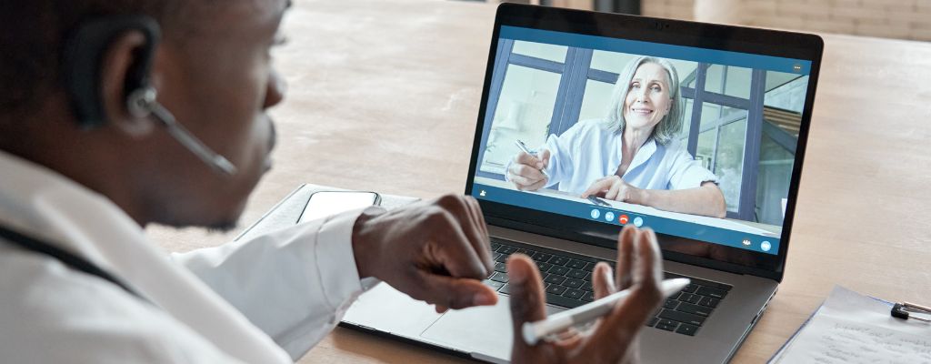
[[[931,363],[931,327],[889,315],[891,304],[835,287],[777,363]]]

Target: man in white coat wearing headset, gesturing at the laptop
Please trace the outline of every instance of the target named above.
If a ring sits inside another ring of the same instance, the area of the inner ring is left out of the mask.
[[[378,280],[440,311],[496,302],[487,228],[462,195],[171,258],[147,242],[150,222],[235,225],[269,166],[265,110],[283,98],[269,52],[289,6],[0,5],[0,361],[289,362]],[[516,340],[515,360],[630,358],[660,301],[654,240],[622,233],[617,285],[596,268],[599,296],[634,288],[605,324]],[[533,263],[508,266],[516,327],[544,318]]]

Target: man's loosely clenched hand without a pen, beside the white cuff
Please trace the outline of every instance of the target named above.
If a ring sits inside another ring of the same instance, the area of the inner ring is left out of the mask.
[[[360,277],[374,276],[437,312],[494,304],[481,280],[492,272],[488,227],[472,196],[438,199],[359,216],[353,251]]]

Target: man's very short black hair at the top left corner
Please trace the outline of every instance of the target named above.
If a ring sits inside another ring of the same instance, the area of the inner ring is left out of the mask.
[[[0,4],[0,119],[33,112],[61,88],[61,53],[82,21],[112,15],[148,15],[163,36],[184,32],[189,3],[197,0],[3,0]],[[184,10],[184,11],[182,11]]]

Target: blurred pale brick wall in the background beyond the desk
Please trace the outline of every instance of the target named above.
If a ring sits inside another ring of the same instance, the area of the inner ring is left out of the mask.
[[[654,17],[693,20],[699,14],[698,20],[715,22],[931,41],[931,0],[643,0],[642,4],[643,14]]]

